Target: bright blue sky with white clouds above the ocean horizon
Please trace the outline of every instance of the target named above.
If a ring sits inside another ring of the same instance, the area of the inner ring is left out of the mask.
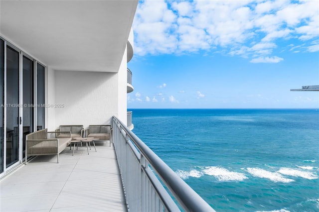
[[[146,0],[128,108],[318,108],[319,1]]]

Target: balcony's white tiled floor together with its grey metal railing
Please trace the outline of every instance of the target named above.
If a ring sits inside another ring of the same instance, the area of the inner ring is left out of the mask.
[[[60,163],[38,156],[1,179],[0,211],[214,212],[114,116],[112,127],[111,147],[66,147]]]

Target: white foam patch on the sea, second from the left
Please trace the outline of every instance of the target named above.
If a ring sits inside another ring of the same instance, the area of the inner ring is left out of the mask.
[[[244,174],[232,172],[222,167],[209,166],[203,169],[203,173],[217,178],[219,181],[243,181],[248,179]]]

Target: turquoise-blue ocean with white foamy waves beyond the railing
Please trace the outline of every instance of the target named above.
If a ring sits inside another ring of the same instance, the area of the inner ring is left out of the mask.
[[[217,212],[319,211],[319,109],[131,109],[133,132]]]

